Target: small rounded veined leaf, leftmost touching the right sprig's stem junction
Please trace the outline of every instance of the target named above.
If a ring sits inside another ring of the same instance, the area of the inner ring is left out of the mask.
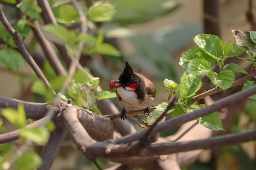
[[[211,64],[205,59],[195,58],[189,62],[188,72],[197,76],[206,75],[211,72]]]

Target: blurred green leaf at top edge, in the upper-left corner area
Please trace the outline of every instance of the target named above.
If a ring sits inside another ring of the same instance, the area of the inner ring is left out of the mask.
[[[42,9],[37,5],[35,1],[20,2],[17,4],[17,7],[20,9],[20,11],[22,11],[23,14],[26,14],[26,16],[41,20],[40,13],[42,12]]]

